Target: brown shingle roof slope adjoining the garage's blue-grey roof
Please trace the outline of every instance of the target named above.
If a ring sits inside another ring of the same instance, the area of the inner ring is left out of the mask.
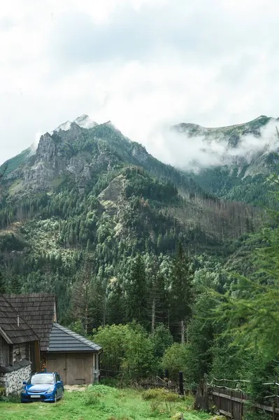
[[[55,295],[31,293],[29,295],[5,295],[5,297],[40,337],[41,351],[48,351],[50,331],[55,317]]]

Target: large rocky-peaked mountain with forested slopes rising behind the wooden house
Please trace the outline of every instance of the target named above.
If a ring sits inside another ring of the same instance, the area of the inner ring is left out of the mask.
[[[178,241],[189,255],[227,258],[231,241],[262,223],[259,209],[208,195],[192,174],[155,159],[110,121],[83,117],[60,125],[41,136],[36,151],[0,171],[0,273],[7,293],[53,291],[69,321],[75,321],[74,285],[87,278],[88,259],[98,326],[108,316],[103,302],[111,285],[120,281],[115,293],[129,290],[130,270],[141,265],[138,252],[144,264],[160,258],[168,288]],[[115,308],[119,298],[112,298]]]

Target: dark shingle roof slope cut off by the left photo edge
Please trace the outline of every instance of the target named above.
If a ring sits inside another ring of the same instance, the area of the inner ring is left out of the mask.
[[[17,314],[19,315],[18,319]],[[0,295],[0,335],[9,344],[32,342],[39,339],[22,314],[17,313],[3,295]]]

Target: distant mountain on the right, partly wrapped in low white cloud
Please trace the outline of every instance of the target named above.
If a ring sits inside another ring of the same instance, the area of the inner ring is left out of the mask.
[[[206,192],[224,200],[273,206],[266,176],[278,173],[279,118],[260,116],[249,123],[206,128],[178,124],[171,128],[193,147],[201,141],[200,158],[185,172]],[[204,163],[206,161],[206,163]]]

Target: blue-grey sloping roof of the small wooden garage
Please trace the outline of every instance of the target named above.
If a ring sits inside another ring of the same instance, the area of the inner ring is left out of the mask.
[[[62,327],[59,323],[54,323],[50,332],[50,346],[48,351],[101,351],[101,346]]]

